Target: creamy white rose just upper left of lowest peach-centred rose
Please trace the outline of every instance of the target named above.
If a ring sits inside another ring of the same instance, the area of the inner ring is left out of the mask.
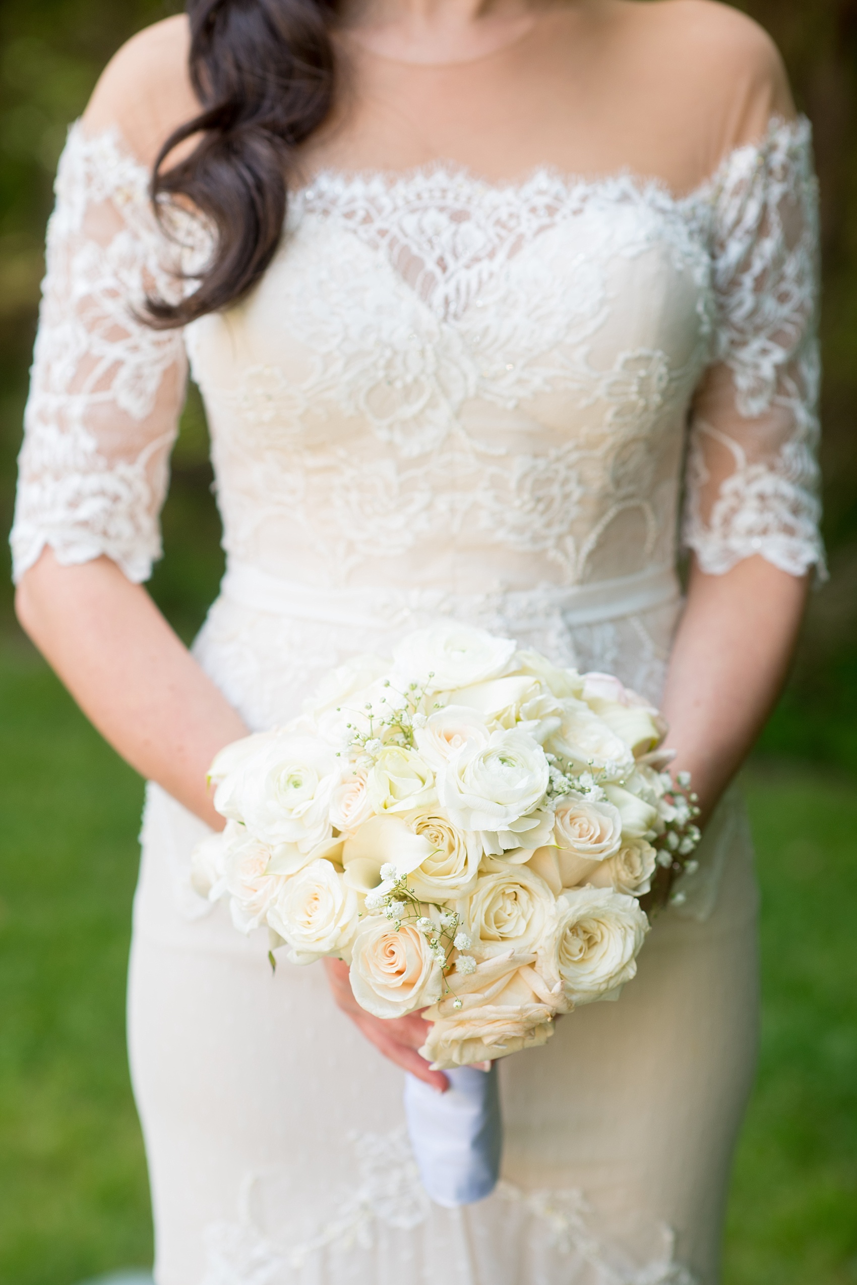
[[[290,946],[293,964],[312,964],[322,955],[347,957],[360,924],[357,894],[330,861],[311,861],[283,880],[267,923]]]

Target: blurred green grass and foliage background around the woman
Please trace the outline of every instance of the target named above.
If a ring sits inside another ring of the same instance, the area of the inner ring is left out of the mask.
[[[12,519],[41,243],[99,68],[179,0],[0,3],[0,527]],[[857,0],[745,0],[816,131],[826,303],[825,533],[789,689],[745,774],[763,1038],[725,1285],[857,1285]],[[191,391],[152,591],[185,637],[222,565]],[[24,642],[0,551],[0,1285],[152,1261],[125,1055],[139,780]]]

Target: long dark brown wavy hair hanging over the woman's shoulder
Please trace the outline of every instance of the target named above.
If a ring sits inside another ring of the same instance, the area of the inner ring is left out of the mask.
[[[193,293],[149,301],[159,329],[224,308],[256,284],[280,240],[294,150],[333,102],[335,0],[188,0],[188,15],[202,111],[163,144],[152,197],[189,202],[216,238]],[[193,152],[164,170],[197,134]]]

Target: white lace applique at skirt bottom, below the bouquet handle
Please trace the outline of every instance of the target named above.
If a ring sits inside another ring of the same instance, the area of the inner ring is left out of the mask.
[[[248,1176],[239,1222],[207,1228],[203,1285],[293,1285],[305,1279],[305,1270],[311,1270],[314,1280],[322,1271],[331,1282],[365,1280],[367,1272],[382,1279],[385,1266],[402,1279],[439,1273],[438,1279],[454,1285],[477,1285],[482,1276],[473,1266],[474,1248],[505,1241],[510,1223],[517,1241],[535,1237],[540,1244],[537,1279],[543,1285],[698,1285],[675,1262],[668,1228],[644,1228],[639,1240],[658,1248],[644,1264],[635,1263],[627,1250],[595,1234],[581,1191],[524,1192],[500,1182],[488,1200],[446,1210],[425,1195],[405,1128],[355,1135],[352,1141],[358,1164],[355,1190],[303,1240],[285,1244],[265,1225],[271,1217],[263,1208],[266,1186],[269,1209],[285,1208],[284,1196],[275,1195],[281,1171]],[[508,1273],[515,1255],[501,1262],[502,1250],[493,1248],[499,1261],[492,1264],[492,1285],[513,1285]],[[357,1264],[355,1253],[373,1255],[374,1271],[367,1263]]]

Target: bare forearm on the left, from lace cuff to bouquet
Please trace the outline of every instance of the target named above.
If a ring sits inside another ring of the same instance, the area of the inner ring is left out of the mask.
[[[22,576],[15,605],[23,628],[113,748],[221,829],[206,772],[247,729],[143,586],[108,558],[63,567],[46,549]]]

